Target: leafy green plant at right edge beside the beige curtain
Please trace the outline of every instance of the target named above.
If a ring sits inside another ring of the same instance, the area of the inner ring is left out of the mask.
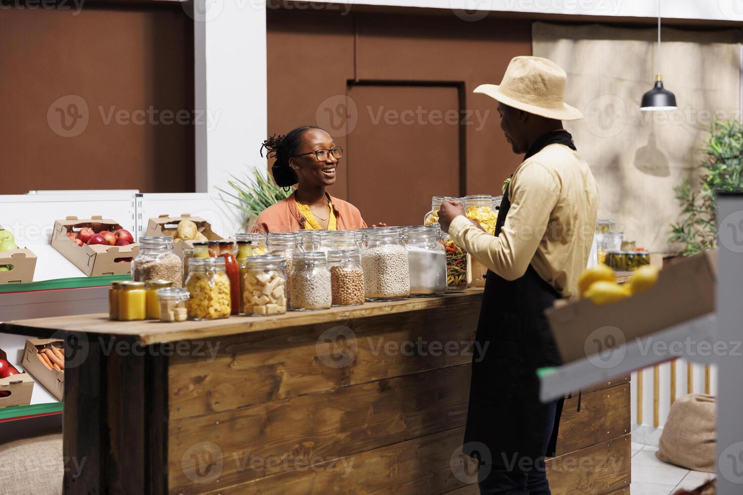
[[[716,247],[716,191],[743,191],[743,125],[736,119],[716,121],[702,148],[704,161],[698,183],[684,179],[675,186],[681,206],[678,223],[671,224],[671,243],[683,243],[681,255],[692,256]],[[697,182],[695,180],[695,182]]]

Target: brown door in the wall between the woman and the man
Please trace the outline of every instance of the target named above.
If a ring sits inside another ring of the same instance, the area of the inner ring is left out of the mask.
[[[351,85],[348,200],[367,223],[421,225],[433,195],[460,190],[456,86]]]

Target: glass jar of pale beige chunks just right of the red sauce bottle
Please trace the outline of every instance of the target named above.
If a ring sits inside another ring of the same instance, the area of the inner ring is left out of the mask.
[[[288,278],[281,256],[251,256],[240,262],[245,315],[283,315],[286,312]]]

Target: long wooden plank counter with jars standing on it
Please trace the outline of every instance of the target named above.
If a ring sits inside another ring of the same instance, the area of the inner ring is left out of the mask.
[[[461,495],[478,493],[452,462],[480,304],[470,289],[268,318],[83,315],[1,331],[68,339],[64,456],[86,464],[65,473],[65,493]],[[582,413],[574,400],[553,493],[629,493],[629,384],[584,393]],[[622,462],[587,473],[562,456]]]

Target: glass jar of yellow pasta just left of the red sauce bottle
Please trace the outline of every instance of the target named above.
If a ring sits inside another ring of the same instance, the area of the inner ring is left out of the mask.
[[[190,320],[215,320],[230,316],[230,279],[224,271],[224,258],[191,258],[186,289]]]

